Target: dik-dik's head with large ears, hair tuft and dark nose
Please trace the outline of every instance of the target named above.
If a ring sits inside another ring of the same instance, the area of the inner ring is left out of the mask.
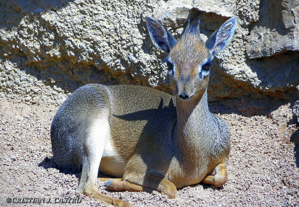
[[[210,65],[214,56],[224,50],[233,37],[237,16],[221,25],[203,43],[197,27],[190,22],[177,41],[161,23],[150,16],[145,17],[153,44],[167,53],[167,68],[173,92],[181,100],[190,100],[207,90]]]

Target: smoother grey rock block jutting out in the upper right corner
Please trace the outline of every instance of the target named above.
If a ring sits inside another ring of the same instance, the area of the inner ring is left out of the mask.
[[[299,50],[298,1],[261,1],[260,16],[246,45],[249,59]]]

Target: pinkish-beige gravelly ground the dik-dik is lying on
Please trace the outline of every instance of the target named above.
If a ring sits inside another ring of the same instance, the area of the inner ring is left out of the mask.
[[[235,102],[210,104],[231,128],[229,180],[223,188],[198,184],[178,190],[176,199],[148,193],[107,191],[103,194],[135,206],[298,206],[299,132],[292,104],[268,116],[242,116]],[[228,105],[230,107],[225,107]],[[76,192],[80,174],[55,168],[50,142],[51,120],[58,107],[14,104],[0,99],[1,206],[107,206]],[[7,198],[51,198],[52,203],[12,204]],[[55,198],[82,198],[80,204],[54,203]]]

